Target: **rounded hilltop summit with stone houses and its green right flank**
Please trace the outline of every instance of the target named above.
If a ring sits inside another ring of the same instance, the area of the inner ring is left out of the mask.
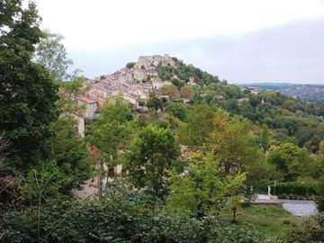
[[[187,98],[187,95],[177,94],[175,89],[161,91],[164,85],[171,87],[201,86],[219,82],[217,76],[212,76],[192,65],[185,65],[178,58],[168,55],[141,56],[136,62],[129,62],[110,75],[102,75],[85,82],[89,91],[81,101],[97,102],[103,105],[106,98],[120,95],[135,107],[147,102],[149,95],[158,93],[166,99]],[[171,88],[172,89],[172,88]],[[172,92],[173,91],[173,92]],[[173,97],[175,96],[175,97]]]

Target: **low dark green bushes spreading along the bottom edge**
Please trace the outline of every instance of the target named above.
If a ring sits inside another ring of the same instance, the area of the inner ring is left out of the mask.
[[[1,242],[269,242],[257,231],[214,217],[167,214],[145,196],[109,194],[103,200],[47,202],[4,212]]]

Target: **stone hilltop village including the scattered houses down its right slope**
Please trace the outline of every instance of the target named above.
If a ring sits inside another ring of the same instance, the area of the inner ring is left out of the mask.
[[[121,96],[124,100],[128,101],[134,110],[141,111],[148,110],[148,107],[144,104],[148,102],[150,94],[154,94],[157,98],[165,101],[173,100],[189,103],[190,97],[188,95],[176,93],[171,97],[161,92],[162,87],[166,85],[175,87],[171,80],[182,80],[179,82],[192,87],[204,85],[197,82],[194,76],[187,76],[186,80],[175,74],[168,76],[168,78],[159,77],[159,68],[172,68],[179,65],[184,65],[183,60],[170,57],[167,54],[163,56],[140,56],[138,61],[129,62],[126,67],[113,74],[97,76],[94,79],[86,80],[84,83],[86,92],[76,97],[77,102],[84,107],[83,111],[78,112],[76,115],[79,133],[84,136],[85,121],[92,120],[94,115],[100,112],[100,107],[103,107],[109,98],[116,96]],[[257,88],[255,87],[242,86],[240,89],[241,91],[247,90],[251,94],[257,94]],[[224,98],[220,94],[215,97],[217,100]],[[249,98],[238,98],[237,101],[238,103],[248,102]]]

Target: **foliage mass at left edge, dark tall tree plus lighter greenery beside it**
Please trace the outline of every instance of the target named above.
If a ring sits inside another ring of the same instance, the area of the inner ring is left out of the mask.
[[[58,93],[50,70],[32,59],[35,45],[47,37],[35,4],[0,3],[0,198],[32,204],[45,196],[42,186],[50,195],[67,195],[92,173],[85,141],[67,113],[76,111],[70,97],[80,80],[64,85],[70,96]]]

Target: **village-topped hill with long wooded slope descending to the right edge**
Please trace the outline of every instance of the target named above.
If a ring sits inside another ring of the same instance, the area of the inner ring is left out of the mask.
[[[316,153],[320,140],[324,139],[321,129],[324,105],[284,94],[288,90],[307,94],[306,88],[321,90],[324,86],[320,85],[229,85],[220,81],[218,76],[168,55],[139,57],[138,61],[126,64],[115,73],[87,80],[85,84],[89,89],[79,97],[79,101],[97,103],[99,108],[107,98],[121,95],[134,110],[160,108],[181,121],[187,121],[185,111],[190,110],[193,104],[207,103],[229,112],[231,116],[245,117],[257,126],[265,124],[271,130],[270,144],[278,145],[290,140]],[[175,108],[173,103],[186,105],[177,104]],[[88,118],[94,118],[95,109],[85,113],[90,114]]]

